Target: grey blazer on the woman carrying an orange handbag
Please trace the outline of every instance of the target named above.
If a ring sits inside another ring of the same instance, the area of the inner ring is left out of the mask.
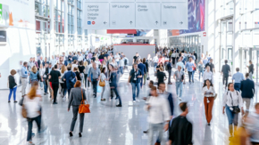
[[[71,89],[71,94],[70,94],[70,101],[68,104],[68,109],[71,108],[71,106],[79,106],[81,104],[82,98],[84,98],[84,100],[87,100],[87,96],[86,96],[86,90],[82,89],[83,91],[83,97],[82,97],[82,93],[81,93],[81,88],[80,87],[75,87]]]

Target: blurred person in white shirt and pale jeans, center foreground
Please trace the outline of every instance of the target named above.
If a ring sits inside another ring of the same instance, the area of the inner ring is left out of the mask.
[[[163,141],[163,128],[168,130],[170,121],[169,102],[161,95],[158,95],[156,87],[151,87],[151,97],[146,101],[145,109],[148,111],[148,141],[147,145],[153,145],[155,131],[159,134],[159,141]],[[163,123],[165,123],[163,127]]]

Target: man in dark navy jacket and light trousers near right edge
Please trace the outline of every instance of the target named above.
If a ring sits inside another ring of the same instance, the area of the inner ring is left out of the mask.
[[[241,82],[240,90],[243,101],[246,101],[246,113],[248,113],[251,99],[255,94],[255,83],[249,79],[249,73],[246,73],[246,80]]]

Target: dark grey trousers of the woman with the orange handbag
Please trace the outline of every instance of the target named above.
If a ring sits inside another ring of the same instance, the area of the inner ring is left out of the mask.
[[[73,108],[73,118],[72,118],[72,122],[71,122],[71,132],[74,131],[74,127],[75,127],[76,121],[78,119],[79,106],[72,106],[72,108]],[[79,114],[79,133],[83,133],[84,118],[85,118],[84,113]]]

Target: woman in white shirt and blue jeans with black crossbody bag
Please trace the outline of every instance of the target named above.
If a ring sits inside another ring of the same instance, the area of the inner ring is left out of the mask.
[[[223,111],[225,114],[225,109],[227,113],[227,117],[229,120],[229,129],[230,129],[230,137],[234,135],[233,131],[236,130],[236,126],[238,125],[238,113],[240,110],[243,110],[243,101],[241,97],[241,93],[234,89],[234,84],[230,83],[228,85],[229,91],[227,91],[223,96]],[[234,130],[233,130],[234,125]]]

